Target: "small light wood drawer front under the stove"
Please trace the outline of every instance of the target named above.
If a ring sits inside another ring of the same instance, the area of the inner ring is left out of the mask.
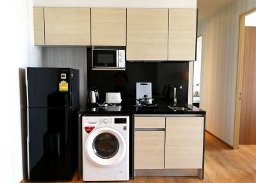
[[[136,129],[164,129],[165,118],[164,117],[136,117],[135,125]]]

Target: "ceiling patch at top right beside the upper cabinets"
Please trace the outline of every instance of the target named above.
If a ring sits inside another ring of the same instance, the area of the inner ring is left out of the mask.
[[[234,0],[197,0],[199,22],[221,10]]]

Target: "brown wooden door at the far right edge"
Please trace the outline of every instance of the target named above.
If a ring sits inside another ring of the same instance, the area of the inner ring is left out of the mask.
[[[256,144],[256,27],[246,27],[239,144]]]

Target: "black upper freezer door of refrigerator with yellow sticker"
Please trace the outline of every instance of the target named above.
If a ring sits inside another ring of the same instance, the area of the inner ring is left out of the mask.
[[[70,107],[70,70],[28,67],[28,107]]]

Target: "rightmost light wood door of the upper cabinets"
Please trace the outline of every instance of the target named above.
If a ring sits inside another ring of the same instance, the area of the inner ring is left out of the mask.
[[[169,10],[168,60],[196,60],[196,21],[196,9]]]

